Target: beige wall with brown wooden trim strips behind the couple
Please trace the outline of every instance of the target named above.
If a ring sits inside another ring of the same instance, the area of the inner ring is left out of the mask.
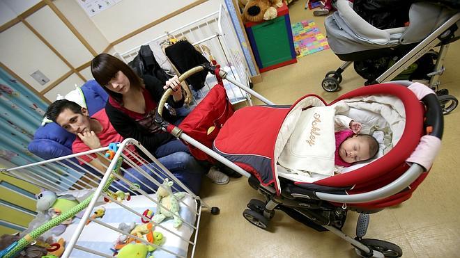
[[[123,0],[89,17],[77,0],[0,0],[1,65],[52,102],[92,78],[88,65],[96,54],[135,48],[218,10],[220,3]],[[191,5],[197,6],[177,14]],[[36,70],[50,81],[40,85],[30,75]]]

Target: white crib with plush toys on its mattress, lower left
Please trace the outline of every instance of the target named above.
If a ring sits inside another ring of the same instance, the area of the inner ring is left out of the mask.
[[[131,151],[132,148],[128,149],[130,145],[137,146],[138,151],[133,152]],[[112,161],[105,157],[107,150],[109,147],[102,147],[98,150],[72,154],[17,168],[3,169],[1,172],[35,184],[40,188],[54,191],[59,195],[74,195],[77,200],[82,200],[80,203],[91,200],[81,219],[73,218],[65,232],[59,236],[54,236],[55,239],[63,238],[66,241],[66,250],[62,257],[114,257],[114,242],[122,235],[155,248],[153,252],[150,252],[155,257],[194,257],[201,210],[203,208],[210,209],[210,207],[192,193],[167,168],[164,168],[137,140],[126,139],[120,143]],[[106,168],[103,177],[93,166],[82,159],[84,155]],[[96,158],[96,155],[100,157]],[[128,158],[128,156],[130,157]],[[121,173],[118,173],[116,172],[116,163],[120,157],[123,159],[123,166],[119,168]],[[151,194],[143,191],[139,184],[132,184],[125,178],[127,175],[133,177],[132,172],[137,172],[138,175],[143,175],[153,182],[150,186],[146,182],[141,182],[151,190]],[[158,189],[152,187],[152,185],[160,186],[164,179],[174,182],[169,194],[181,192],[185,195],[182,198],[174,197],[180,206],[178,218],[182,225],[178,228],[174,227],[173,219],[166,218],[161,223],[155,223],[150,216],[143,213],[147,209],[156,213],[157,207],[161,207],[162,211],[170,211],[164,207],[164,204],[159,204]],[[105,191],[104,188],[108,186],[105,185],[110,182],[112,183],[108,191]],[[121,182],[124,185],[120,184]],[[116,191],[130,193],[130,200],[118,201],[114,199],[114,195],[108,194]],[[92,197],[91,193],[93,193]],[[88,195],[90,196],[88,197]],[[111,202],[107,203],[103,199]],[[105,215],[102,218],[92,218],[91,214],[100,207],[105,208]],[[213,208],[213,211],[218,211],[218,209]],[[66,216],[66,214],[62,213],[59,217],[61,216]],[[59,217],[57,218],[59,219]],[[141,219],[144,219],[144,223],[152,223],[153,231],[162,233],[163,241],[160,245],[118,229],[118,225],[121,223],[135,222],[136,225],[142,225]],[[87,223],[88,221],[91,223]],[[33,243],[36,237],[29,232],[24,239],[27,239],[27,243]],[[13,253],[7,253],[4,257],[13,257]]]

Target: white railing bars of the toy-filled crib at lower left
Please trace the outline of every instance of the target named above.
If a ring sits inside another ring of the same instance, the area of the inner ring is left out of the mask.
[[[137,151],[130,147],[133,145],[137,147]],[[87,207],[82,208],[86,208],[86,211],[79,221],[77,229],[72,234],[72,238],[66,239],[66,251],[63,253],[63,257],[71,257],[72,250],[74,248],[102,257],[113,257],[113,252],[107,253],[110,252],[110,250],[107,250],[107,252],[100,252],[100,250],[91,250],[91,248],[87,248],[77,243],[80,234],[82,234],[87,222],[89,221],[99,225],[100,227],[112,229],[114,232],[113,234],[123,234],[128,238],[137,241],[138,243],[144,243],[145,245],[149,245],[156,250],[167,252],[169,255],[174,255],[176,257],[187,257],[187,255],[184,256],[183,253],[178,253],[177,250],[174,250],[174,248],[171,248],[169,245],[156,245],[155,243],[151,243],[139,238],[137,235],[130,234],[129,232],[123,232],[121,229],[114,227],[114,225],[110,225],[109,223],[105,223],[102,220],[92,218],[90,215],[93,213],[94,208],[104,203],[102,202],[102,199],[105,199],[107,202],[114,202],[121,209],[129,211],[130,213],[139,217],[140,220],[143,220],[144,223],[152,223],[153,227],[158,228],[163,232],[167,232],[169,236],[174,237],[175,239],[180,239],[180,241],[183,241],[183,243],[187,245],[187,249],[189,252],[191,252],[191,257],[193,257],[194,250],[197,245],[201,209],[203,207],[210,207],[205,202],[201,201],[197,195],[195,195],[192,191],[190,191],[189,188],[187,188],[187,186],[185,186],[185,184],[183,184],[157,159],[155,159],[155,157],[142,145],[140,145],[137,140],[126,139],[123,141],[123,143],[118,144],[118,150],[114,153],[114,155],[112,154],[112,160],[107,158],[109,155],[105,155],[108,150],[109,147],[102,147],[97,150],[63,156],[60,158],[41,161],[26,166],[3,169],[1,172],[5,175],[15,177],[17,179],[22,179],[40,188],[54,191],[58,195],[72,194],[78,196],[77,193],[82,193],[82,191],[85,191],[85,193],[93,193],[93,195],[90,197],[87,197],[88,195],[84,195],[85,197],[82,202],[89,202],[89,204]],[[116,164],[117,161],[119,165],[123,163],[123,165],[118,166],[119,168]],[[101,172],[96,167],[102,167],[104,170]],[[126,178],[128,176],[131,179],[137,179],[137,182],[131,182]],[[174,182],[170,189],[160,187],[165,180]],[[105,187],[105,185],[107,186]],[[192,220],[192,223],[190,223],[190,219],[183,218],[180,213],[176,213],[177,218],[182,222],[181,227],[187,227],[194,234],[193,239],[178,234],[174,230],[171,230],[171,228],[164,227],[162,223],[153,222],[151,216],[148,216],[147,213],[139,213],[139,211],[132,209],[129,202],[118,199],[117,195],[114,194],[125,193],[130,197],[134,195],[143,195],[146,197],[148,202],[146,203],[146,207],[156,206],[157,208],[162,209],[163,213],[173,212],[171,209],[169,209],[169,207],[166,207],[165,204],[158,202],[159,198],[157,192],[160,188],[168,191],[169,195],[171,195],[171,197],[178,202],[182,209],[187,209],[187,214],[189,214],[187,216],[194,216],[196,218]],[[153,195],[148,194],[147,192],[153,193]],[[178,198],[173,194],[179,192],[185,193],[187,196],[192,198],[192,203],[196,205],[186,203],[181,198]],[[78,211],[75,211],[75,213],[77,212]],[[59,220],[59,218],[64,215],[68,216],[68,214],[61,214],[60,216],[53,218],[53,220]],[[126,223],[130,222],[131,221],[127,221]],[[59,223],[50,224],[58,225]],[[43,231],[43,227],[40,228],[40,231]],[[43,233],[45,231],[43,231]],[[23,246],[21,248],[36,240],[36,238],[38,238],[38,236],[40,236],[42,233],[40,232],[40,234],[38,234],[37,232],[33,232],[31,230],[28,230],[28,232],[29,234],[24,234],[26,237],[23,239],[26,240],[21,239],[23,242],[26,241],[22,243]],[[14,250],[13,248],[10,248],[10,250]],[[14,251],[16,252],[18,250]],[[4,257],[14,257],[15,252],[7,253]]]

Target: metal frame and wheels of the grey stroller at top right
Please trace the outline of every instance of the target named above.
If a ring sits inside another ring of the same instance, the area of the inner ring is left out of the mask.
[[[347,1],[347,0],[338,0],[338,1]],[[406,55],[394,63],[388,70],[383,72],[377,79],[374,81],[366,81],[365,85],[371,85],[376,83],[382,83],[385,81],[391,81],[401,72],[406,70],[409,65],[415,63],[419,58],[424,54],[427,54],[429,51],[432,51],[434,47],[440,46],[438,51],[438,56],[436,64],[434,65],[434,71],[427,74],[430,77],[429,81],[423,81],[424,84],[427,84],[431,90],[436,92],[438,95],[438,100],[440,102],[443,114],[450,113],[457,107],[459,101],[456,97],[449,95],[447,89],[439,89],[440,81],[439,77],[443,74],[445,68],[443,66],[445,61],[445,56],[447,55],[447,49],[452,41],[455,40],[454,32],[457,31],[458,25],[457,22],[460,21],[460,13],[457,13],[447,19],[447,21],[433,31],[427,38],[419,42],[411,51],[408,51]],[[454,40],[452,40],[454,38]],[[335,92],[339,90],[339,84],[342,82],[342,72],[351,65],[353,61],[345,61],[337,70],[330,71],[325,74],[325,78],[321,82],[321,86],[324,90],[328,92]]]

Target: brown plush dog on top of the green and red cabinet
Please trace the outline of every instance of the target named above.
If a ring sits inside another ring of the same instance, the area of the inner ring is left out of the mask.
[[[243,22],[275,19],[278,15],[277,8],[282,6],[282,0],[249,0],[243,10]]]

